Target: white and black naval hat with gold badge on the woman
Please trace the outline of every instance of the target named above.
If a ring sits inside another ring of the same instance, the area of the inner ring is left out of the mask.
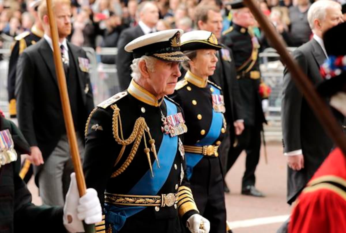
[[[219,50],[223,47],[218,43],[214,33],[205,30],[196,30],[186,32],[181,37],[181,51],[196,49],[215,49]]]

